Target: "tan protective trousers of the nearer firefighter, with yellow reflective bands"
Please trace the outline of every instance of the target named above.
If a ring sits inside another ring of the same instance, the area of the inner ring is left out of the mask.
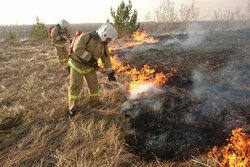
[[[77,68],[77,67],[76,67]],[[77,71],[76,71],[77,70]],[[98,87],[98,79],[96,71],[93,68],[86,70],[81,70],[79,68],[73,69],[70,68],[70,83],[68,88],[69,93],[69,110],[76,110],[76,105],[79,101],[79,96],[83,86],[83,76],[87,82],[89,88],[90,103],[91,102],[100,102],[100,94]]]

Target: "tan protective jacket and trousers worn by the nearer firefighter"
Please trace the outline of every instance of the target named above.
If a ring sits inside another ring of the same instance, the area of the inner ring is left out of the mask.
[[[88,84],[90,104],[94,106],[100,103],[96,69],[87,64],[91,57],[96,61],[101,59],[107,74],[113,72],[107,43],[103,42],[96,32],[75,37],[73,52],[68,61],[70,66],[69,110],[75,110],[83,86],[83,76]]]

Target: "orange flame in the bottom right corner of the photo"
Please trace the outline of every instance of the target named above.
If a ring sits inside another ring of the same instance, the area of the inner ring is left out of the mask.
[[[242,128],[236,128],[228,140],[230,143],[227,146],[221,149],[215,146],[208,155],[216,158],[221,166],[250,166],[250,135],[243,133]]]

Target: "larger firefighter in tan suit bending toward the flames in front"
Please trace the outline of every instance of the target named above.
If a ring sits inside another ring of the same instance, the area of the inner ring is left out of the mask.
[[[68,113],[70,116],[76,114],[76,104],[83,86],[83,76],[89,88],[90,107],[101,105],[96,74],[99,58],[104,65],[103,69],[109,81],[116,81],[107,44],[117,36],[117,30],[110,23],[104,23],[96,31],[74,37],[71,43],[71,46],[73,44],[72,53],[68,61],[70,67]]]

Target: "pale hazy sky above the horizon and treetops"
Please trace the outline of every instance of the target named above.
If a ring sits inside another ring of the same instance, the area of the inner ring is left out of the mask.
[[[0,25],[34,24],[36,17],[45,24],[58,23],[66,19],[69,23],[102,23],[108,18],[112,22],[110,8],[117,9],[122,0],[1,0]],[[145,21],[146,15],[154,15],[163,0],[131,0],[137,10],[138,22]],[[171,0],[178,10],[182,3],[192,0]],[[200,9],[200,17],[209,19],[215,10],[246,10],[250,0],[194,0]],[[124,0],[128,4],[128,0]]]

